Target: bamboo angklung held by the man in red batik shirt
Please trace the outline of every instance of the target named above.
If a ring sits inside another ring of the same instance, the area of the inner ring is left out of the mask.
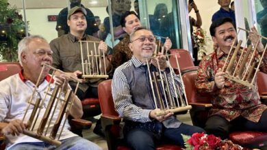
[[[267,38],[258,34],[257,36],[259,38],[257,43],[251,45],[249,44],[249,35],[251,34],[251,31],[238,28],[238,33],[240,33],[240,31],[249,33],[246,37],[247,40],[244,44],[245,46],[241,46],[242,40],[239,40],[238,44],[236,44],[238,37],[236,36],[231,49],[229,50],[222,72],[225,72],[226,78],[245,85],[246,87],[253,88],[257,72],[259,72],[259,65],[262,63],[262,59],[266,52],[267,44],[264,46],[264,51],[261,54],[257,52],[257,48],[261,39],[264,38],[267,40]]]

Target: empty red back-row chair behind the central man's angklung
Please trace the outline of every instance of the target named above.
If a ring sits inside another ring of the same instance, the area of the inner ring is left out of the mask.
[[[188,50],[183,49],[171,49],[170,54],[177,54],[177,59],[179,61],[179,66],[181,70],[181,74],[184,74],[186,72],[190,72],[192,70],[197,70],[199,67],[194,66],[193,59],[188,52]],[[170,65],[175,69],[178,70],[175,55],[170,56]],[[179,72],[176,72],[179,74]]]

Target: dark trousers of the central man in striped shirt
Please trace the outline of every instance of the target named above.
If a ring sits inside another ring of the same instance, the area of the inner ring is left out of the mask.
[[[201,127],[183,123],[177,128],[166,128],[158,121],[155,125],[144,126],[131,127],[131,130],[125,132],[125,140],[131,149],[155,149],[155,143],[162,140],[176,145],[183,145],[181,134],[191,136],[196,132],[205,132]],[[146,128],[148,126],[149,128]],[[125,127],[127,128],[126,123]]]

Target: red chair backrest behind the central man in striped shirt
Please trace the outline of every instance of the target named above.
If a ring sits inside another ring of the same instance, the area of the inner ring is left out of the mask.
[[[99,83],[99,102],[101,107],[101,112],[103,115],[116,115],[114,108],[114,102],[112,98],[112,80],[104,80]]]

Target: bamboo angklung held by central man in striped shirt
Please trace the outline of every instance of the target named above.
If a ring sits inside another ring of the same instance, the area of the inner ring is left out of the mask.
[[[181,74],[177,54],[172,55],[175,55],[178,70]],[[168,57],[170,55],[165,56],[168,63]],[[157,70],[151,70],[151,59],[155,59],[157,61]],[[186,90],[183,85],[182,78],[179,78],[179,75],[174,73],[174,70],[169,63],[168,67],[170,71],[162,71],[157,57],[154,56],[147,58],[147,67],[149,68],[149,80],[153,95],[153,102],[155,104],[155,108],[160,108],[161,110],[160,112],[157,112],[157,116],[166,115],[169,112],[190,110],[192,108],[192,106],[188,105],[188,101],[186,99]],[[178,78],[181,80],[181,82],[177,80]]]

